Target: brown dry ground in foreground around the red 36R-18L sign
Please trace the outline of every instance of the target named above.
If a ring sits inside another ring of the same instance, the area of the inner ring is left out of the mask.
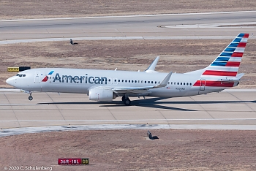
[[[255,131],[108,130],[21,134],[0,138],[0,168],[53,170],[256,170]],[[61,166],[59,158],[89,158]]]

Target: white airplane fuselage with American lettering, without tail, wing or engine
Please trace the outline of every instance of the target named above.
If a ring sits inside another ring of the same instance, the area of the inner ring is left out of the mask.
[[[53,73],[49,75],[50,72]],[[167,73],[39,68],[19,72],[19,75],[21,77],[10,77],[7,83],[25,91],[89,94],[90,88],[98,86],[108,88],[156,86]],[[151,89],[148,93],[140,95],[170,98],[208,94],[225,89],[225,87],[207,87],[203,84],[194,86],[197,80],[200,80],[200,75],[173,73],[167,86]],[[129,94],[129,96],[138,96],[138,94]]]

